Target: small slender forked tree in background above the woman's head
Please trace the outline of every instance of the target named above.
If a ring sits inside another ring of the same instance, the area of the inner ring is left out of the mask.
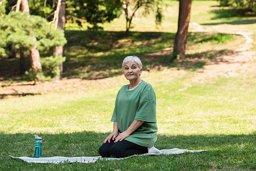
[[[144,14],[148,14],[150,11],[155,11],[156,9],[156,24],[161,24],[162,10],[159,4],[162,0],[121,0],[121,2],[123,3],[123,11],[126,19],[126,36],[129,35],[133,17],[139,8],[144,8]]]

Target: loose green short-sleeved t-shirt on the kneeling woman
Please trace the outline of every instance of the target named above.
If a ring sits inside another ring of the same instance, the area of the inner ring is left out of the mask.
[[[134,120],[144,121],[125,140],[145,147],[152,147],[157,140],[156,94],[151,84],[142,82],[129,91],[123,86],[116,97],[111,121],[118,123],[119,134],[126,131]]]

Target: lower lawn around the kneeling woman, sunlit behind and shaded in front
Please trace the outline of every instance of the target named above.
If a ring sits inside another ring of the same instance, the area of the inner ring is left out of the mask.
[[[157,96],[159,133],[155,146],[159,149],[207,149],[207,152],[101,160],[93,164],[29,164],[8,157],[33,157],[33,134],[42,137],[44,157],[98,156],[98,147],[112,130],[110,118],[115,96],[127,83],[123,76],[115,76],[108,78],[111,87],[89,86],[87,91],[79,93],[2,99],[0,169],[255,169],[256,77],[239,74],[208,78],[199,83],[191,81],[195,73],[155,71],[142,73],[142,79],[152,84]],[[99,84],[99,81],[92,80],[91,84]],[[185,87],[186,90],[180,91]]]

